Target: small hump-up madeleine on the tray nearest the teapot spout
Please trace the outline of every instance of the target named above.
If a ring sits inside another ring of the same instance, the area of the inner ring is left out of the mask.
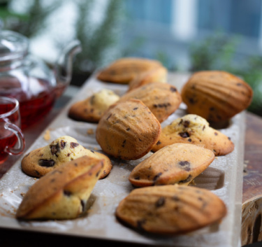
[[[112,90],[100,90],[85,100],[75,102],[69,108],[68,117],[83,122],[99,122],[107,108],[119,98]]]

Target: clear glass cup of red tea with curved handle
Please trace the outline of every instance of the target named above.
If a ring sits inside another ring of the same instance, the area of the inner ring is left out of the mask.
[[[25,141],[20,127],[19,102],[12,97],[0,97],[0,164],[8,155],[22,154]]]

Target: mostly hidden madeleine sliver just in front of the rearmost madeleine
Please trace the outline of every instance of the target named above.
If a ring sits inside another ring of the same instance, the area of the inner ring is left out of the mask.
[[[140,73],[129,83],[129,91],[148,83],[166,83],[168,70],[164,66],[158,66],[150,71]]]

